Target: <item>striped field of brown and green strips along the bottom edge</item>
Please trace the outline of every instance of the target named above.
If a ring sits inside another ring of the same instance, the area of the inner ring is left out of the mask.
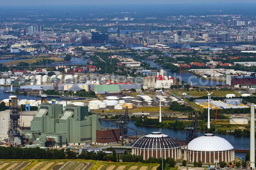
[[[88,164],[88,165],[86,165]],[[0,169],[11,170],[156,170],[159,164],[129,163],[129,162],[105,162],[91,160],[1,160]]]

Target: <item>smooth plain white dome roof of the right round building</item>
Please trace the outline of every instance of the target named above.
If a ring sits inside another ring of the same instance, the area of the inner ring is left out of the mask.
[[[212,133],[193,139],[188,143],[188,150],[192,151],[226,151],[234,147],[226,140]]]

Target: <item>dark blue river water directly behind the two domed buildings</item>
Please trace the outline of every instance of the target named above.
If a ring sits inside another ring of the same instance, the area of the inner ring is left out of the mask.
[[[134,122],[136,120],[129,120],[128,126],[134,129],[137,129],[139,131],[142,131],[146,134],[150,134],[151,132],[162,132],[165,135],[168,135],[172,138],[178,138],[178,139],[186,139],[186,133],[182,133],[179,129],[169,129],[169,128],[160,128],[160,127],[148,127],[148,126],[136,126],[134,125]],[[107,127],[107,123],[102,121],[101,122],[102,127]],[[111,123],[110,125],[111,126]],[[132,131],[128,129],[129,135],[136,135],[135,131]],[[137,134],[139,135],[139,134]],[[198,132],[198,137],[203,136],[204,133]],[[222,137],[226,139],[235,149],[248,149],[250,150],[250,137],[249,136],[235,136],[235,135],[227,135],[227,134],[216,134],[216,136]],[[236,152],[235,156],[238,156],[242,159],[245,159],[246,153],[244,152]]]

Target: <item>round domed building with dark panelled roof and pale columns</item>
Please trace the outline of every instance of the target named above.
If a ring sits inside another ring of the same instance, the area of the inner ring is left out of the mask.
[[[162,136],[163,136],[163,158],[181,158],[181,146],[173,138],[161,132],[152,132],[150,135],[143,136],[132,145],[132,154],[143,156],[144,160],[149,157],[159,158],[162,155]]]

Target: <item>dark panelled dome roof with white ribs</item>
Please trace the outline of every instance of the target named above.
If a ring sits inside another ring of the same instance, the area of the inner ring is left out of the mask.
[[[163,145],[165,149],[178,148],[180,144],[173,138],[163,134]],[[161,149],[162,147],[162,134],[161,132],[152,132],[150,135],[143,136],[138,139],[132,146],[133,148],[142,149]]]

